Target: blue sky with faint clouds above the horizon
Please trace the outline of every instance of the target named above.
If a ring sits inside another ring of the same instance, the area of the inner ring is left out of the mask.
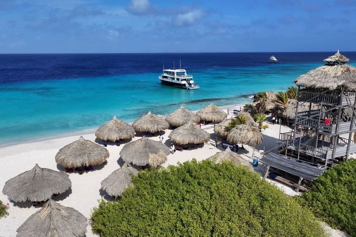
[[[0,53],[356,50],[356,0],[0,0]]]

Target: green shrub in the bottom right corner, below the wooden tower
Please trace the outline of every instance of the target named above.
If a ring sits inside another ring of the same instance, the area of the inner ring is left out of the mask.
[[[356,160],[329,169],[297,199],[331,227],[356,237]]]

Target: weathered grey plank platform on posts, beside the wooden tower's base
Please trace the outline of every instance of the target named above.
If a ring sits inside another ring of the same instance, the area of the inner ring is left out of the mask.
[[[297,188],[295,189],[296,192],[299,192],[300,184],[303,179],[314,180],[317,176],[325,172],[324,169],[316,168],[307,163],[300,162],[293,158],[280,156],[272,152],[266,154],[260,161],[267,165],[264,178],[267,177],[270,167],[280,169],[299,177]]]

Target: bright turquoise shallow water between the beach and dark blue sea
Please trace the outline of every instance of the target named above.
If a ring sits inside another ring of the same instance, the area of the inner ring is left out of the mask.
[[[191,69],[198,90],[161,85],[157,73],[33,80],[0,85],[0,145],[94,129],[114,114],[126,122],[142,112],[167,115],[180,105],[197,111],[251,102],[262,90],[281,91],[322,63]],[[356,66],[354,64],[354,66]]]

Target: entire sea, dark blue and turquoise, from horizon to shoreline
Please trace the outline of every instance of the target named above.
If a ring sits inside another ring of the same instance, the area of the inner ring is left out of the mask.
[[[114,114],[132,122],[182,104],[244,104],[285,90],[334,53],[0,54],[0,145],[95,129]],[[356,66],[356,52],[341,53]],[[272,54],[278,63],[268,63]],[[177,69],[179,59],[200,89],[161,85],[163,63]]]

